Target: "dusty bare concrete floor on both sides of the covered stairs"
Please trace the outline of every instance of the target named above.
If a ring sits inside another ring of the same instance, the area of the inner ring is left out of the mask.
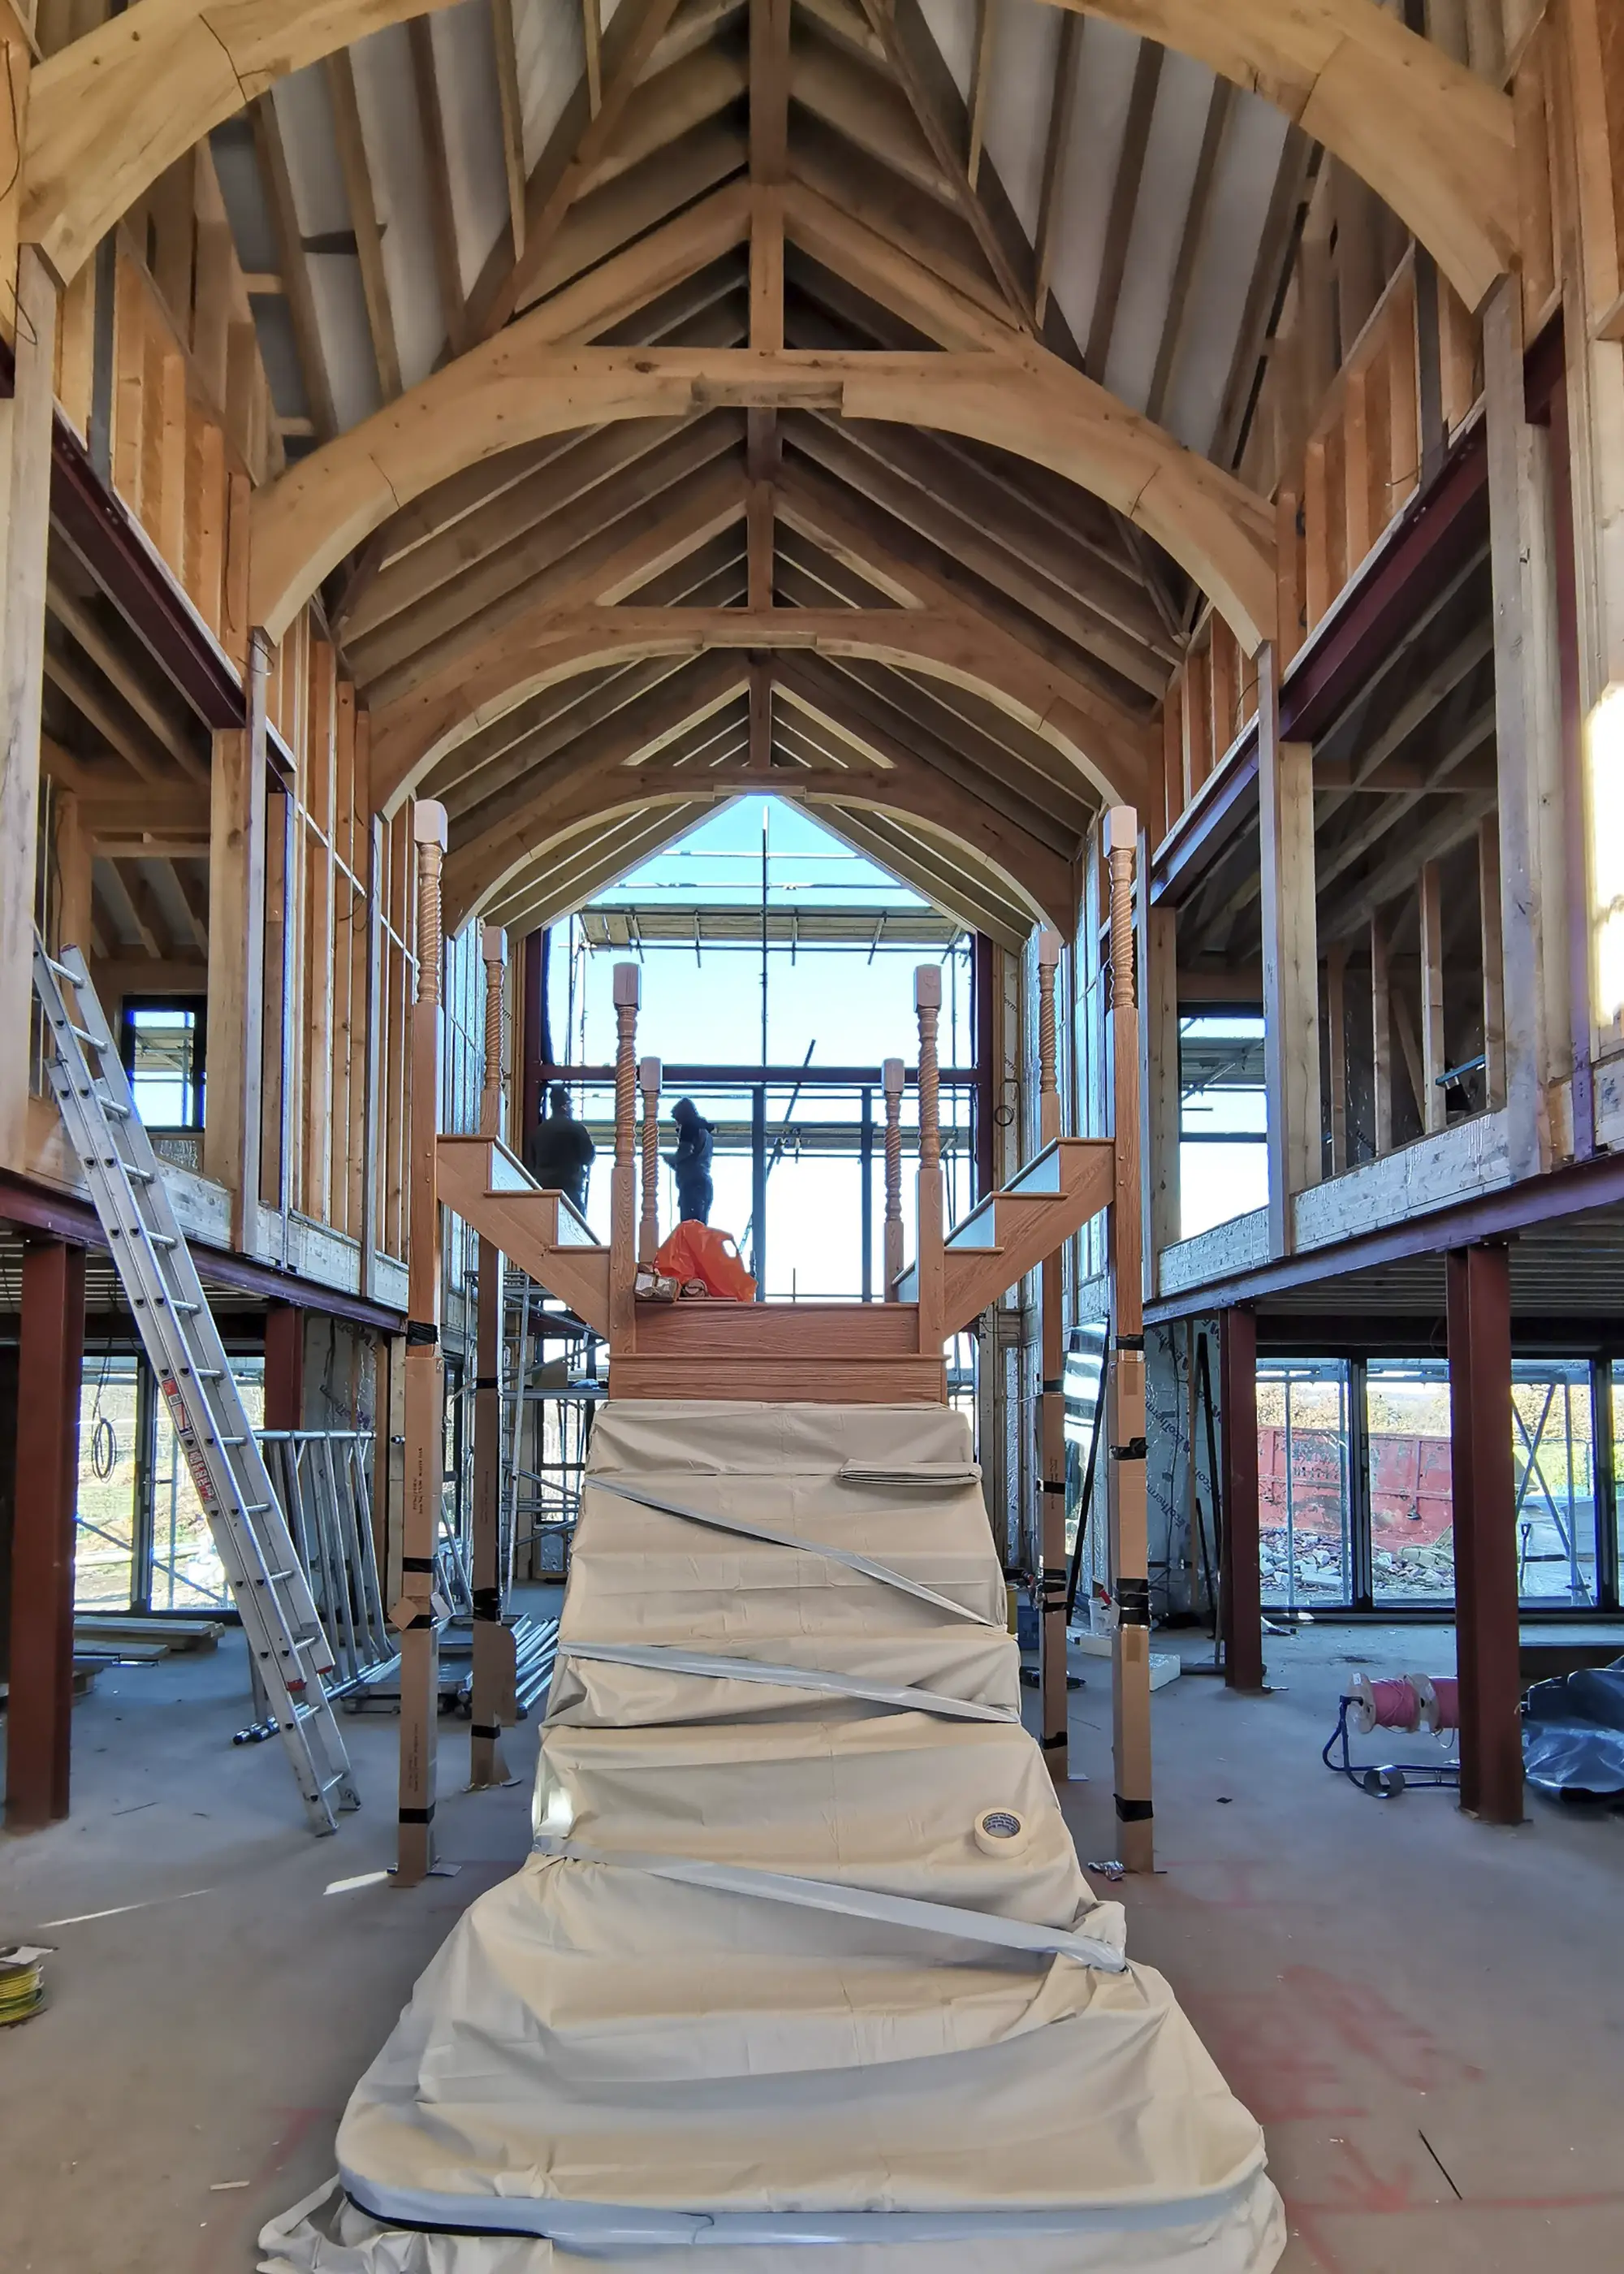
[[[1365,1799],[1319,1765],[1349,1660],[1449,1671],[1451,1644],[1321,1626],[1271,1640],[1271,1696],[1158,1692],[1160,1872],[1119,1890],[1130,1951],[1267,2126],[1285,2274],[1619,2267],[1624,1817],[1535,1799],[1488,1831],[1442,1792]],[[1099,1860],[1110,1687],[1080,1667],[1092,1783],[1064,1806]],[[252,2267],[262,2222],[332,2169],[412,1978],[525,1851],[532,1728],[521,1783],[466,1794],[466,1724],[444,1721],[459,1874],[334,1890],[389,1862],[393,1724],[346,1724],[368,1806],[312,1840],[280,1749],[230,1744],[243,1694],[234,1640],[105,1674],[75,1712],[73,1817],[0,1840],[0,1940],[57,1947],[48,2012],[0,2033],[7,2274]]]

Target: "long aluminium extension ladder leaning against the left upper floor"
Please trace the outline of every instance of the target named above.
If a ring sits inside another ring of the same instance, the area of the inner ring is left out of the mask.
[[[68,1014],[64,989],[73,994],[77,1016]],[[64,948],[55,960],[36,935],[34,994],[45,1014],[45,1073],[61,1123],[84,1167],[146,1355],[168,1401],[255,1674],[293,1762],[312,1828],[332,1833],[339,1810],[359,1808],[359,1796],[323,1683],[334,1660],[309,1580],[293,1553],[214,1312],[80,951]]]

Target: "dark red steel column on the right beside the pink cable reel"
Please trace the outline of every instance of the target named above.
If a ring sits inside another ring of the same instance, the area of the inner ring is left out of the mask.
[[[1460,1806],[1522,1824],[1517,1476],[1510,1453],[1510,1260],[1449,1255],[1449,1494],[1456,1526]]]

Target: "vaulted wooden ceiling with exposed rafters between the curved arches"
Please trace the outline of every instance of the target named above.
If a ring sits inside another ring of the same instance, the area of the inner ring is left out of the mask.
[[[1037,0],[466,0],[280,82],[214,152],[289,457],[557,302],[560,337],[621,348],[1030,337],[1224,466],[1317,161],[1205,66]],[[769,787],[1014,941],[1069,928],[1108,771],[1051,714],[1149,750],[1201,596],[1030,459],[807,400],[489,457],[323,598],[375,787],[450,812],[453,921],[548,921]],[[582,607],[696,637],[548,682]],[[767,607],[817,646],[721,616]]]

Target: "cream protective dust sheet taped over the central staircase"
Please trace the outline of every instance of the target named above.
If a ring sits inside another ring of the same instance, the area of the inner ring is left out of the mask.
[[[423,1974],[273,2274],[1265,2274],[1262,2135],[1019,1721],[969,1426],[619,1401],[537,1846]]]

